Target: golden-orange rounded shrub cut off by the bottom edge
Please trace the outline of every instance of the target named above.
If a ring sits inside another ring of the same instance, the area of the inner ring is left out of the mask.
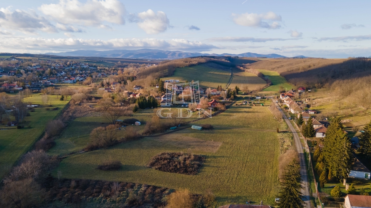
[[[188,189],[178,190],[170,194],[168,208],[192,208],[193,201]]]

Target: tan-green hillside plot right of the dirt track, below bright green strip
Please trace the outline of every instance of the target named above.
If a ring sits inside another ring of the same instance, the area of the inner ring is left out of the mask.
[[[242,90],[243,87],[247,86],[249,87],[249,90],[259,90],[262,89],[265,85],[266,82],[255,74],[234,69],[233,79],[229,87],[234,88],[237,86]]]

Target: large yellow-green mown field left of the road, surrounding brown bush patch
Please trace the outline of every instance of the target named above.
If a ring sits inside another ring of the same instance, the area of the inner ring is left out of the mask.
[[[146,137],[115,147],[73,154],[65,158],[54,171],[65,178],[126,181],[168,188],[188,188],[201,194],[211,188],[216,205],[274,204],[278,192],[279,142],[276,128],[280,127],[267,107],[233,106],[224,113],[193,123],[212,124],[214,130],[176,131],[158,137]],[[247,130],[251,129],[251,130]],[[259,129],[255,131],[253,129]],[[58,144],[57,144],[58,145]],[[160,152],[202,154],[206,162],[197,175],[161,172],[145,167],[151,157]],[[119,160],[119,171],[97,170],[106,160]]]

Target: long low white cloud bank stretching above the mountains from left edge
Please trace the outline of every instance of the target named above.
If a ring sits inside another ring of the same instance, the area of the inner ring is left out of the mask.
[[[69,36],[70,33],[65,33]],[[8,37],[0,38],[0,50],[7,52],[45,51],[45,48],[53,51],[66,50],[113,50],[113,49],[140,49],[154,48],[162,50],[188,50],[209,51],[217,48],[211,44],[200,41],[188,41],[184,39],[159,40],[155,38],[115,38],[111,40],[94,40],[81,38],[33,38],[33,37]],[[35,52],[34,52],[35,53]]]

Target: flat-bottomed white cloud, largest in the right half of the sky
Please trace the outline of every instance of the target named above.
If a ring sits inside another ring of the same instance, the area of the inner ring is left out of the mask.
[[[232,13],[233,21],[236,24],[247,27],[262,27],[268,29],[278,29],[281,25],[278,21],[282,21],[280,15],[275,14],[272,11],[263,14],[256,13],[244,13],[234,14]],[[266,21],[264,21],[266,20]]]

